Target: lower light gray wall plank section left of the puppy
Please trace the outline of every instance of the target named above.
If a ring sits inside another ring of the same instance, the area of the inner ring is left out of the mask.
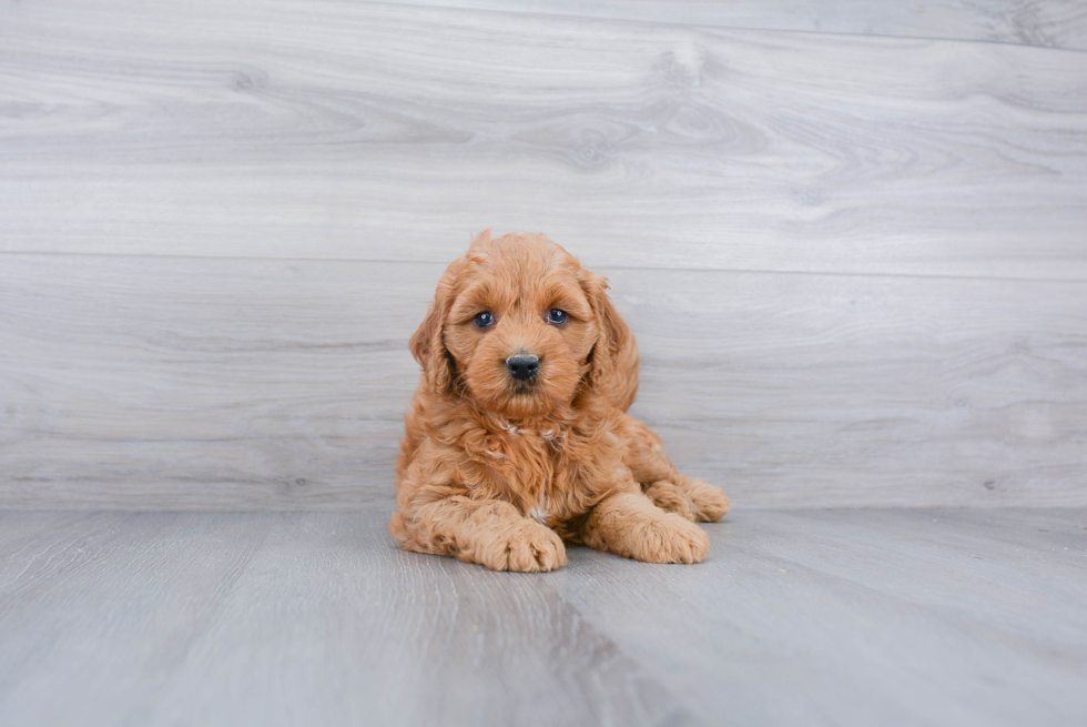
[[[439,272],[6,258],[2,501],[384,506]]]

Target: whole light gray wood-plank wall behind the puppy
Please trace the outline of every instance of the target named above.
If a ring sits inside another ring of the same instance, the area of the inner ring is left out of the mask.
[[[489,225],[738,506],[1087,505],[1081,3],[437,4],[0,2],[0,505],[387,507]]]

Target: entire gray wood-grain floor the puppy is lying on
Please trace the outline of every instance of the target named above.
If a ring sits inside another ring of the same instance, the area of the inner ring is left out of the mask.
[[[0,513],[0,723],[1079,725],[1087,512],[749,512],[526,577],[380,513]]]

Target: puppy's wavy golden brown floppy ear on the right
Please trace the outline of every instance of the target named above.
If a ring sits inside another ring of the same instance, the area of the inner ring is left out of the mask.
[[[638,387],[638,353],[634,337],[627,322],[619,315],[611,299],[608,297],[608,279],[583,271],[581,287],[597,319],[600,336],[597,339],[592,353],[589,354],[591,368],[588,374],[590,390],[614,394],[609,398],[623,411],[633,400],[633,391]],[[609,391],[613,390],[613,391]],[[628,392],[629,391],[629,395]],[[629,401],[628,401],[629,400]]]

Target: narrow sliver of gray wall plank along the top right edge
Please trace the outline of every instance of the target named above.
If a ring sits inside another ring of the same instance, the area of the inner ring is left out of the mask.
[[[1077,0],[396,0],[396,4],[1087,49]]]

